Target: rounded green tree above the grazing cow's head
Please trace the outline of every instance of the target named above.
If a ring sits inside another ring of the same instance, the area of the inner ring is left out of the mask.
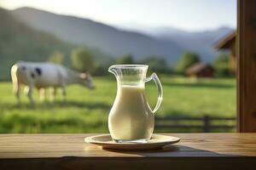
[[[93,72],[96,69],[96,61],[93,59],[92,54],[87,48],[73,50],[71,61],[73,68],[77,71]]]

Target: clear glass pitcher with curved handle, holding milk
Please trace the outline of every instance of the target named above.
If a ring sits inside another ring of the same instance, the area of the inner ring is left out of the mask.
[[[108,71],[117,80],[117,95],[108,116],[108,129],[115,142],[147,142],[154,130],[154,113],[163,99],[159,78],[146,77],[148,65],[112,65]],[[154,80],[158,100],[154,110],[145,97],[145,82]]]

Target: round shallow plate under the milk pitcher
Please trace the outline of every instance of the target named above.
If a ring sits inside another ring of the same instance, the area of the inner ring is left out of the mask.
[[[90,136],[84,139],[86,143],[97,144],[103,149],[115,150],[150,150],[157,149],[166,144],[175,144],[180,139],[173,136],[153,134],[147,143],[116,143],[111,138],[110,134]]]

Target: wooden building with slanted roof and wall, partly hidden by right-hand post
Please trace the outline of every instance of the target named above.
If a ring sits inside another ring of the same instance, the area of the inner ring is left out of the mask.
[[[230,51],[230,71],[236,72],[236,31],[230,32],[213,45],[216,50]]]

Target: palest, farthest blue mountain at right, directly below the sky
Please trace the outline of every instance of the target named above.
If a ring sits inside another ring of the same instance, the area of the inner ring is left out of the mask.
[[[148,35],[160,40],[172,40],[183,48],[201,55],[201,59],[210,62],[218,52],[212,49],[212,44],[226,34],[234,31],[230,27],[220,27],[212,31],[182,31],[172,27],[148,29]]]

